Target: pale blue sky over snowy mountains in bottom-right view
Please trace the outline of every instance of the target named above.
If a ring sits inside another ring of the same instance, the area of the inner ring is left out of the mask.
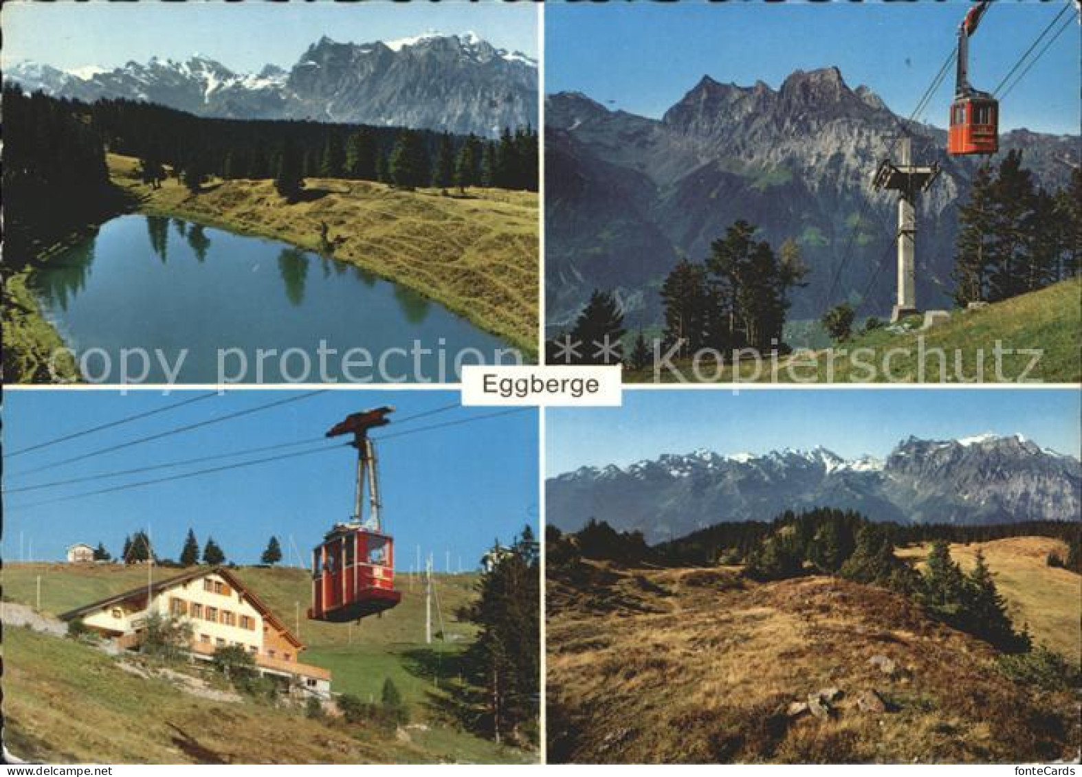
[[[552,477],[583,465],[625,466],[662,453],[708,448],[763,454],[822,445],[848,458],[885,456],[902,439],[1022,434],[1079,455],[1077,390],[624,391],[622,407],[545,413]]]

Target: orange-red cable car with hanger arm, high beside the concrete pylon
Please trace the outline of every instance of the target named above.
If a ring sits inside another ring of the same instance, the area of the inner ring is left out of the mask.
[[[977,31],[989,3],[974,5],[958,28],[958,73],[950,106],[947,151],[952,155],[995,153],[999,150],[1000,104],[969,85],[969,36]]]

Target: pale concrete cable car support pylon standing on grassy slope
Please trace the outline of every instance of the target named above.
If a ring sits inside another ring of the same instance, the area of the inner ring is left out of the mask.
[[[880,162],[872,179],[879,190],[898,192],[898,293],[890,321],[919,312],[916,308],[916,197],[926,191],[939,175],[939,165],[913,164],[912,140],[908,135],[898,140],[898,163],[889,159]]]

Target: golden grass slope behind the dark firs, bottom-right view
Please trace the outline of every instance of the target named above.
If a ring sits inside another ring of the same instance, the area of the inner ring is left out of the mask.
[[[898,555],[923,560],[931,545],[902,548]],[[1082,577],[1051,567],[1047,555],[1067,554],[1067,544],[1051,537],[1011,537],[991,542],[950,546],[950,554],[962,568],[973,568],[977,551],[992,571],[995,587],[1007,602],[1011,620],[1028,625],[1033,641],[1044,644],[1076,664],[1082,659]]]

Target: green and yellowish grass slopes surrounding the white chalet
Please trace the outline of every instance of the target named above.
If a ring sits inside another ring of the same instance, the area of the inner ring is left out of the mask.
[[[180,570],[155,567],[155,579]],[[474,597],[475,574],[437,575],[445,642],[424,643],[420,582],[399,577],[403,602],[359,625],[308,620],[308,574],[296,568],[238,567],[234,572],[290,628],[298,625],[306,664],[333,672],[334,693],[379,701],[386,678],[401,692],[410,725],[399,734],[307,720],[303,711],[242,698],[194,697],[160,679],[124,671],[118,659],[70,640],[28,629],[5,630],[4,715],[11,750],[53,761],[151,763],[530,762],[536,753],[496,745],[463,731],[446,713],[459,691],[457,659],[474,627],[454,611]],[[8,563],[4,601],[34,606],[41,578],[41,612],[56,615],[145,585],[144,566]],[[435,619],[435,606],[433,608]],[[434,631],[439,629],[438,622]],[[89,715],[90,708],[101,715]],[[70,735],[71,721],[82,721]]]

